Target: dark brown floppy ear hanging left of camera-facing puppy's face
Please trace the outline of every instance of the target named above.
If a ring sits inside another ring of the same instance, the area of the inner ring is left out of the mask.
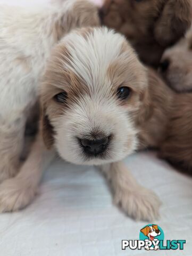
[[[53,138],[53,126],[51,125],[48,115],[46,114],[46,107],[43,106],[41,108],[41,119],[40,119],[40,126],[41,126],[41,135],[43,137],[43,141],[47,149],[51,149],[54,143]]]

